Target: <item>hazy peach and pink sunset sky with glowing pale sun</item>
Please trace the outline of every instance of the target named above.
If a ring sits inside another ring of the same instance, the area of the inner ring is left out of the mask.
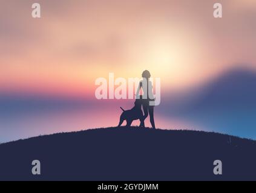
[[[0,0],[0,96],[10,104],[11,97],[95,103],[96,78],[140,77],[144,69],[161,78],[164,100],[228,69],[256,68],[254,0],[36,2],[40,19],[31,17],[34,1]],[[212,15],[215,2],[221,19]]]

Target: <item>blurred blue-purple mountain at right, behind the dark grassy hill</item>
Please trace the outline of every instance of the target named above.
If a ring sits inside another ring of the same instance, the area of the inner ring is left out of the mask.
[[[168,98],[168,97],[167,97]],[[256,72],[229,69],[200,87],[163,101],[162,113],[205,130],[256,139]]]

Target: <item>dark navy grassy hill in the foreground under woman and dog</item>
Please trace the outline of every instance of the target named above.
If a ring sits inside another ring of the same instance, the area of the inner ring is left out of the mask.
[[[1,144],[0,180],[256,180],[255,151],[255,141],[226,134],[101,128]]]

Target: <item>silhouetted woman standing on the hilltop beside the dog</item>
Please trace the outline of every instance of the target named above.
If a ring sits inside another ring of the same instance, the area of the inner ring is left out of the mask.
[[[143,121],[145,121],[145,119],[148,116],[150,116],[150,123],[153,127],[153,129],[156,129],[155,127],[155,122],[154,122],[154,95],[153,95],[153,86],[151,81],[149,81],[149,78],[151,77],[151,74],[149,71],[143,71],[142,73],[142,78],[143,80],[140,81],[139,87],[137,89],[137,93],[136,96],[139,97],[139,93],[140,93],[140,88],[142,88],[143,90],[143,111],[144,111],[144,119]]]

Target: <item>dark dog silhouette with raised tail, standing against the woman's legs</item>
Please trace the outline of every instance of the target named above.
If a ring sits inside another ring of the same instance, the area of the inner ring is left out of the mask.
[[[120,121],[117,127],[120,127],[123,121],[126,121],[126,127],[130,127],[131,123],[137,119],[140,120],[140,127],[145,127],[143,112],[142,112],[142,102],[143,102],[142,96],[140,96],[139,99],[135,100],[133,109],[124,110],[122,107],[120,107],[123,110],[123,113],[120,116]]]

